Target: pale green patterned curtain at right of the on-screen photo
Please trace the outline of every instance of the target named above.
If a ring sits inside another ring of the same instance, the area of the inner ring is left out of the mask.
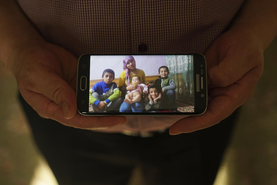
[[[176,84],[176,101],[194,105],[194,74],[192,55],[167,55],[169,77]]]

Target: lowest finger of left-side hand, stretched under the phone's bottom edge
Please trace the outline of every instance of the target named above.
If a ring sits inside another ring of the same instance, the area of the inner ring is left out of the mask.
[[[104,129],[126,123],[125,116],[83,116],[78,112],[71,119],[65,119],[62,108],[54,101],[35,92],[29,93],[31,99],[26,99],[26,101],[40,116],[51,118],[67,126],[81,129]]]

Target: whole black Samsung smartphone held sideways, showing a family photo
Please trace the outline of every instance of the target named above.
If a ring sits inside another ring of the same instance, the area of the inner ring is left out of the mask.
[[[126,90],[127,84],[131,89]],[[196,53],[82,55],[77,101],[83,115],[203,114],[207,108],[205,57]]]

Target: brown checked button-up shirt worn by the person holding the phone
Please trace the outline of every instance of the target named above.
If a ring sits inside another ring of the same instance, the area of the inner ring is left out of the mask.
[[[47,41],[78,58],[84,53],[204,53],[244,0],[17,1]],[[128,116],[126,125],[110,131],[158,130],[182,116],[139,117]]]

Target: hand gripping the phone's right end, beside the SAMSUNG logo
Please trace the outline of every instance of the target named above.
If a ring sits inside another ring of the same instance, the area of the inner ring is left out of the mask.
[[[169,133],[188,133],[215,125],[248,101],[263,72],[263,52],[261,41],[249,28],[232,28],[218,37],[205,53],[206,112],[177,121]]]

